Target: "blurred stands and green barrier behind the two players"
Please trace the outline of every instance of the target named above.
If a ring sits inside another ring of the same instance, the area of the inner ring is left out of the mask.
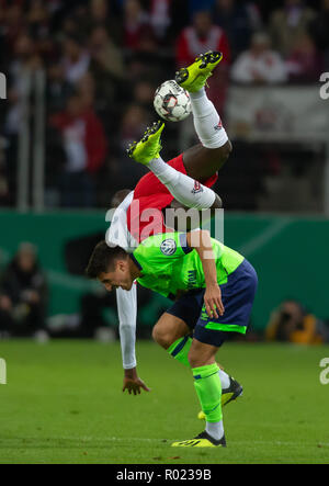
[[[277,29],[284,5],[287,27]],[[0,70],[8,79],[0,106],[0,268],[20,242],[35,244],[53,330],[65,326],[65,315],[78,323],[83,296],[99,295],[81,275],[86,255],[107,228],[113,194],[134,188],[145,170],[125,148],[157,118],[157,86],[189,60],[184,30],[207,22],[222,29],[226,52],[209,95],[234,143],[216,190],[225,242],[260,276],[253,329],[261,334],[287,297],[328,319],[328,101],[319,82],[329,70],[328,19],[328,1],[0,1]],[[269,35],[285,68],[280,82],[232,75],[258,32]],[[84,137],[70,132],[72,118]],[[194,143],[192,117],[168,123],[162,156]],[[139,332],[148,336],[166,302],[144,295],[141,303]],[[116,327],[115,302],[104,305],[101,320]]]

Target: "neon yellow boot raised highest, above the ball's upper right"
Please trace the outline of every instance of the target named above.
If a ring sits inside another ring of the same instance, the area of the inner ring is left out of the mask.
[[[190,93],[195,93],[205,86],[222,59],[223,54],[216,50],[201,54],[191,66],[175,74],[175,82]]]

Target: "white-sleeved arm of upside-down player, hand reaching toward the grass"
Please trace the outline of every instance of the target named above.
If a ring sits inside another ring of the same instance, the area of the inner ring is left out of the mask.
[[[141,389],[149,392],[146,384],[138,377],[135,353],[136,319],[137,319],[137,290],[136,285],[127,292],[122,289],[116,291],[118,331],[124,368],[123,392],[129,395],[139,395]]]

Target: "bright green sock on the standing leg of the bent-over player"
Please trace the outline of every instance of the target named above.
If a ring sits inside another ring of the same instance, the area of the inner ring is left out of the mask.
[[[219,368],[216,363],[194,368],[194,387],[198,396],[201,408],[207,422],[219,422],[222,414],[222,384],[218,375]]]

